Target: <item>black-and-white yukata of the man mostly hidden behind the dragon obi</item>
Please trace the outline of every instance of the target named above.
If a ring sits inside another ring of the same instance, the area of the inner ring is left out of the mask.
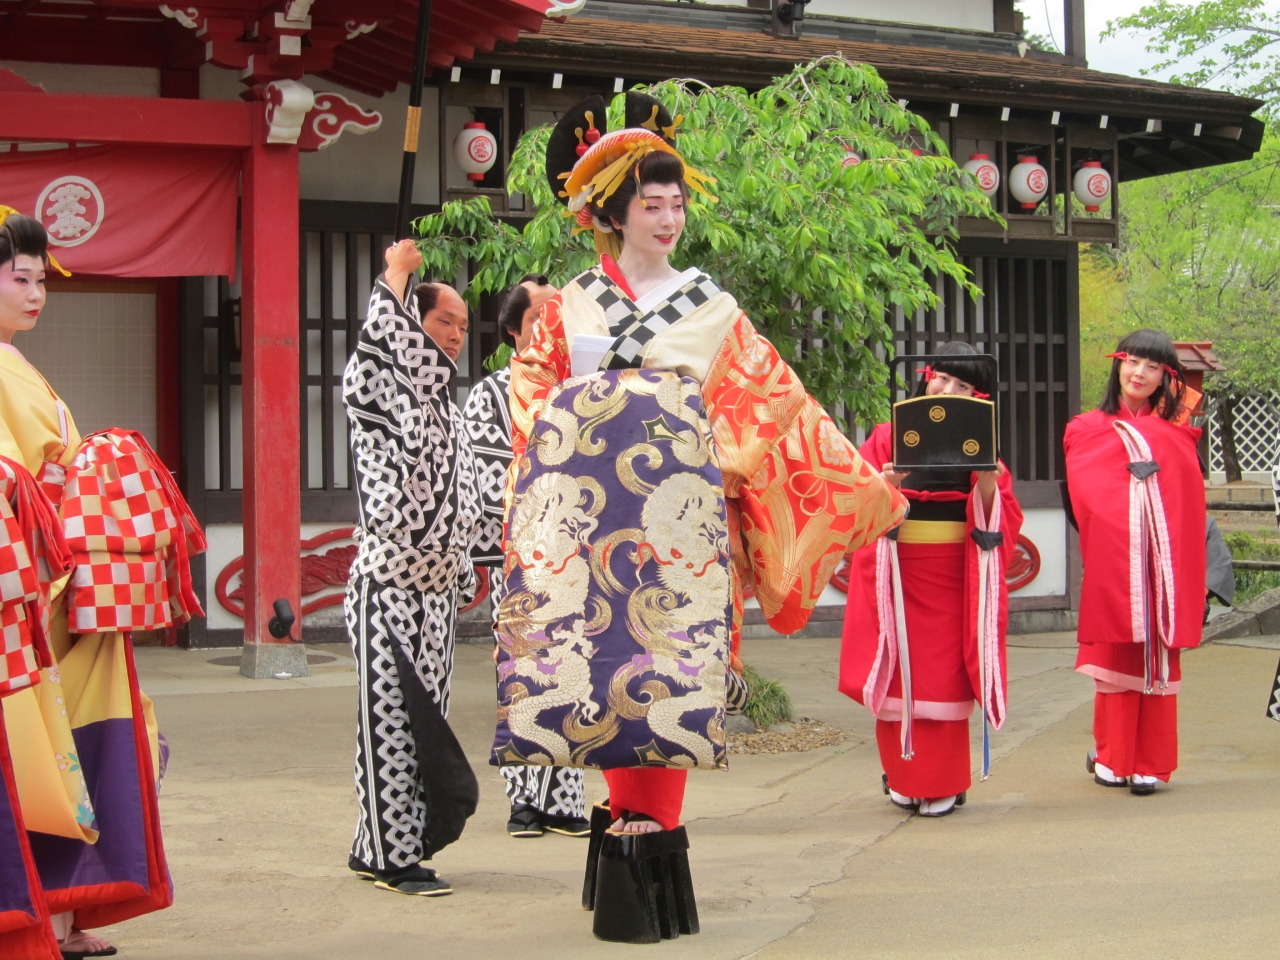
[[[511,370],[503,367],[477,383],[467,394],[462,416],[475,452],[483,515],[471,559],[489,568],[489,599],[497,626],[504,593],[502,524],[507,468],[511,466]],[[532,806],[547,817],[585,818],[586,785],[582,771],[571,767],[502,767],[503,786],[512,809]]]

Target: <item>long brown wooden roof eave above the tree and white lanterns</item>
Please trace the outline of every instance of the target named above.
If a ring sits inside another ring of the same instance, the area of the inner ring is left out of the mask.
[[[626,82],[692,77],[707,83],[760,87],[797,63],[842,54],[870,64],[893,96],[922,113],[950,104],[1028,116],[1064,116],[1120,131],[1121,178],[1245,160],[1262,143],[1262,101],[1091,70],[1046,59],[1002,56],[940,46],[865,44],[833,37],[783,40],[765,32],[660,26],[590,15],[548,20],[540,33],[477,55],[476,67],[556,72],[576,77],[623,77]],[[1147,132],[1148,120],[1160,128]],[[1201,131],[1197,133],[1197,124]]]

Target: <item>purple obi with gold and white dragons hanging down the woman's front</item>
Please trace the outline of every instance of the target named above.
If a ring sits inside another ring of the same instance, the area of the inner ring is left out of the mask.
[[[492,763],[727,765],[728,527],[699,384],[632,369],[553,388],[508,536]]]

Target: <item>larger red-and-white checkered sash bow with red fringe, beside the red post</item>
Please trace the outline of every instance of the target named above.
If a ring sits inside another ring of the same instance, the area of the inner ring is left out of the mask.
[[[72,632],[156,630],[204,616],[191,557],[205,550],[205,534],[142,434],[86,436],[67,468],[61,508],[76,557]]]

